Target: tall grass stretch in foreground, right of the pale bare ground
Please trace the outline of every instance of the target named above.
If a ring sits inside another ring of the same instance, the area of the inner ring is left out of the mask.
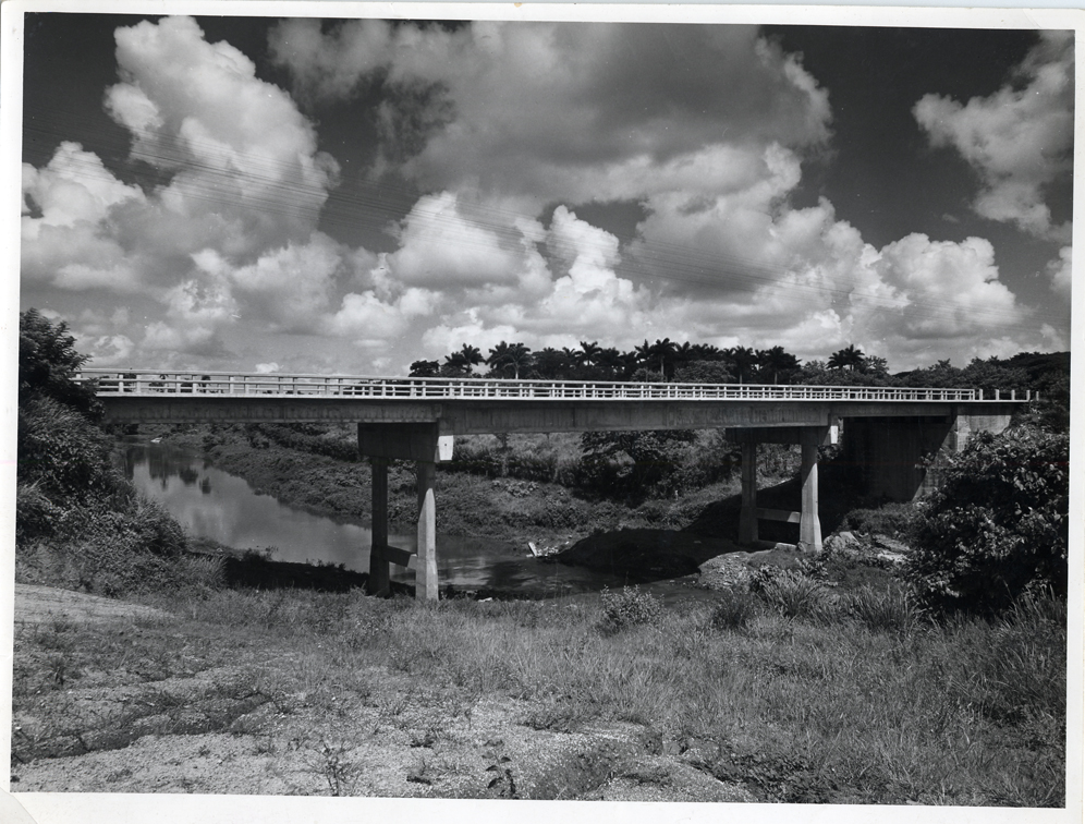
[[[770,587],[621,632],[606,629],[602,603],[223,592],[190,615],[309,649],[318,638],[332,663],[312,666],[331,667],[326,680],[342,680],[334,667],[386,667],[462,714],[503,695],[535,728],[625,720],[693,739],[705,770],[766,800],[1062,803],[1063,602],[1034,595],[998,621],[935,621],[888,591],[822,592],[817,608],[790,597]]]

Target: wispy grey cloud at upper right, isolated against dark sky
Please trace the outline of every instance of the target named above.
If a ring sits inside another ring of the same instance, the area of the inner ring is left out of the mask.
[[[1070,225],[1052,225],[1045,187],[1073,168],[1073,33],[1041,33],[1014,81],[967,104],[926,95],[913,112],[931,145],[952,146],[979,172],[979,215],[1065,242]]]

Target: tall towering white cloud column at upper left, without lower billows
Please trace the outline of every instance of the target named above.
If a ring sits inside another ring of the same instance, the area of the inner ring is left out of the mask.
[[[338,170],[290,96],[233,46],[207,43],[191,17],[115,38],[121,83],[106,108],[132,133],[132,158],[172,175],[139,229],[166,222],[179,251],[235,258],[304,240]]]

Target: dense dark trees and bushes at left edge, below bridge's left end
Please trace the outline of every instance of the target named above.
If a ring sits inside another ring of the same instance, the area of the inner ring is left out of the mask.
[[[113,465],[93,389],[73,380],[86,361],[74,342],[63,323],[20,316],[17,574],[106,595],[183,583],[187,538]]]

